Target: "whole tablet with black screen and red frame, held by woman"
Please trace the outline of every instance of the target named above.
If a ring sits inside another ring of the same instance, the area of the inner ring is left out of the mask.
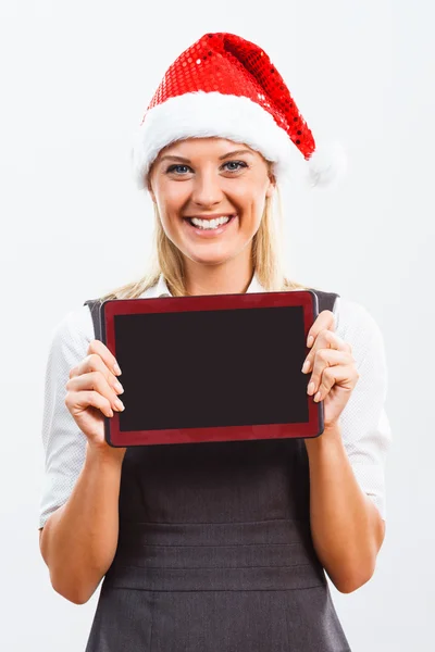
[[[323,402],[301,372],[314,291],[107,300],[100,311],[124,387],[125,410],[104,421],[110,446],[322,434]]]

